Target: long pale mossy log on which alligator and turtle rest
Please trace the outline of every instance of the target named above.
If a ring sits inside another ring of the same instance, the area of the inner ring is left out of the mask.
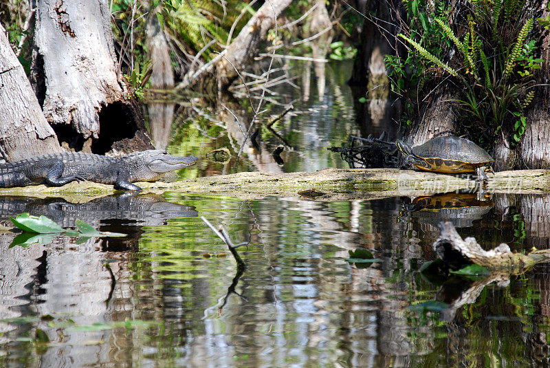
[[[488,174],[485,190],[495,193],[549,193],[550,170],[503,171]],[[268,195],[299,197],[315,189],[316,199],[378,199],[395,196],[432,195],[459,190],[474,191],[474,180],[438,173],[397,169],[325,169],[312,173],[236,173],[179,182],[138,182],[143,193],[177,192],[259,199]],[[0,188],[0,195],[34,197],[96,197],[115,193],[113,186],[91,182],[61,187],[27,186]],[[307,195],[306,195],[307,197]]]

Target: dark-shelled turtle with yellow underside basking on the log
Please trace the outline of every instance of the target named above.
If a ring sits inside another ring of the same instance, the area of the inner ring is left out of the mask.
[[[437,137],[420,146],[410,147],[402,140],[395,142],[403,155],[404,166],[412,164],[423,171],[436,173],[477,173],[478,180],[487,180],[494,159],[481,147],[465,138]]]

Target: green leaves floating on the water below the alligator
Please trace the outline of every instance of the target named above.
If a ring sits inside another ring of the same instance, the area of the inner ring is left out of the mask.
[[[77,230],[64,229],[51,219],[45,216],[32,216],[29,213],[21,213],[16,217],[10,217],[10,220],[17,228],[23,230],[23,233],[17,235],[10,244],[14,246],[27,247],[30,244],[51,243],[54,237],[64,233],[69,237],[78,237],[77,243],[83,243],[91,237],[125,237],[126,234],[120,232],[100,232],[84,221],[76,220]]]

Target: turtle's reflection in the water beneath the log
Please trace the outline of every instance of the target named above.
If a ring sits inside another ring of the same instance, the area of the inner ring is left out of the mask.
[[[494,202],[486,195],[444,193],[415,197],[410,204],[404,204],[404,212],[422,224],[437,226],[441,221],[450,221],[456,228],[468,228],[493,206]]]

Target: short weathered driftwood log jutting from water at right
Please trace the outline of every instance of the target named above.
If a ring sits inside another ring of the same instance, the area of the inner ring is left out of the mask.
[[[492,250],[483,250],[473,237],[462,239],[450,222],[439,224],[439,230],[441,235],[434,241],[433,248],[446,263],[470,261],[489,271],[507,270],[520,274],[537,263],[550,261],[550,250],[535,250],[524,255],[512,253],[505,243]]]

